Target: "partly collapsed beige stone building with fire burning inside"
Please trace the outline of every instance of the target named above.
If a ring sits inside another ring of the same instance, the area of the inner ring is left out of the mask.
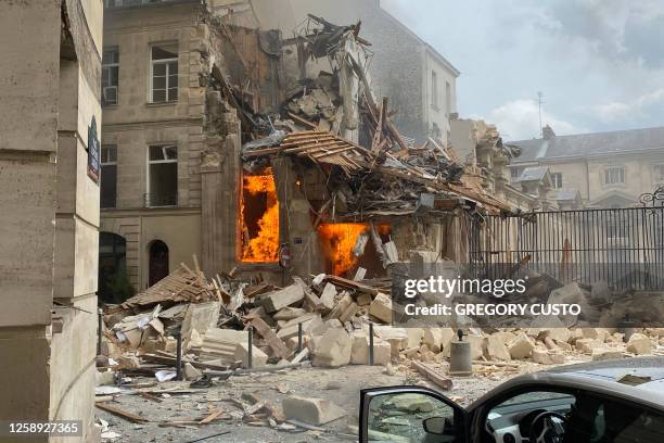
[[[490,167],[401,137],[361,23],[310,15],[284,38],[231,22],[192,1],[107,8],[102,296],[124,269],[141,290],[192,254],[276,282],[385,276],[418,248],[462,261],[462,218],[510,208]]]

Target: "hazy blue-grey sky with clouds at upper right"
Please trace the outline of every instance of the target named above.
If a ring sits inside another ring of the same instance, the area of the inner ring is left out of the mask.
[[[664,0],[381,0],[461,75],[503,139],[664,126]]]

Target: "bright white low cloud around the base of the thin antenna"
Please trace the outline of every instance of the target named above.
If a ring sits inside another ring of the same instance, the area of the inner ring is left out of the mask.
[[[507,102],[488,113],[486,119],[496,124],[506,140],[522,140],[539,137],[539,110],[533,100],[521,99]],[[541,114],[542,126],[549,125],[559,136],[585,132],[546,111]]]

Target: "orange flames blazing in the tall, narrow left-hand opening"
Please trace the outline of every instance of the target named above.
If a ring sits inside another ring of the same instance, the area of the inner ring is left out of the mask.
[[[246,224],[245,206],[254,197],[266,194],[266,208],[258,219],[258,233],[251,237]],[[242,199],[240,220],[242,231],[242,262],[265,263],[279,260],[279,200],[272,168],[266,168],[259,175],[245,175],[242,180]]]

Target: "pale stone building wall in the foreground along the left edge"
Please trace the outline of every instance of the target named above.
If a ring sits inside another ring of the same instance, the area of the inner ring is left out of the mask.
[[[0,14],[0,420],[81,420],[84,442],[99,441],[102,16],[101,0],[3,2]]]

